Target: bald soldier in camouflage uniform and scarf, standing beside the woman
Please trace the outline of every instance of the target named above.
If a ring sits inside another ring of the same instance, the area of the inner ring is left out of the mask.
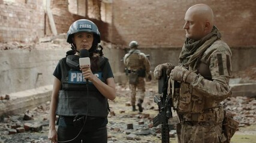
[[[230,142],[235,130],[222,130],[226,116],[221,105],[221,101],[231,95],[230,47],[221,40],[221,33],[213,25],[213,11],[208,5],[190,7],[183,29],[186,39],[178,66],[164,63],[154,70],[156,79],[162,76],[162,69],[170,76],[168,95],[173,98],[173,108],[179,118],[178,142]],[[174,82],[178,86],[175,87]],[[230,120],[228,122],[237,123]]]

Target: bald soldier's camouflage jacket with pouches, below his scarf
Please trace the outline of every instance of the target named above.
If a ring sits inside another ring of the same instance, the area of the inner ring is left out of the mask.
[[[221,40],[213,42],[203,52],[198,58],[195,74],[189,75],[192,76],[192,82],[181,83],[179,91],[173,95],[173,104],[178,113],[206,113],[205,118],[209,110],[219,107],[220,102],[231,95],[228,85],[231,76],[231,55],[229,46]],[[194,71],[190,66],[188,70]],[[196,120],[202,117],[196,117]],[[192,119],[188,117],[188,120],[189,118]]]

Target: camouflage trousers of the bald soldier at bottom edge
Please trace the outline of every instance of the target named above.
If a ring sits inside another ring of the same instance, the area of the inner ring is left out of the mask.
[[[213,122],[178,123],[176,125],[179,143],[218,143],[221,142],[222,122],[215,125]]]

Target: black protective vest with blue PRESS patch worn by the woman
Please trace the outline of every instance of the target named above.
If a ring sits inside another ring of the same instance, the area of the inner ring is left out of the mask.
[[[109,103],[100,91],[91,83],[86,88],[86,80],[82,77],[82,71],[71,69],[67,58],[60,61],[62,71],[62,89],[59,91],[59,100],[56,114],[62,116],[87,115],[93,117],[107,117],[109,113]],[[100,57],[98,71],[93,71],[103,82],[106,79],[102,76],[102,68],[105,66],[107,58]]]

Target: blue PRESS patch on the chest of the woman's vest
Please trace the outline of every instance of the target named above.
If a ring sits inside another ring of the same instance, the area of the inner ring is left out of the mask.
[[[102,73],[94,73],[100,80],[103,79]],[[82,71],[68,71],[68,83],[78,83],[78,84],[86,84],[86,80],[83,78]],[[92,84],[91,80],[88,82]]]

